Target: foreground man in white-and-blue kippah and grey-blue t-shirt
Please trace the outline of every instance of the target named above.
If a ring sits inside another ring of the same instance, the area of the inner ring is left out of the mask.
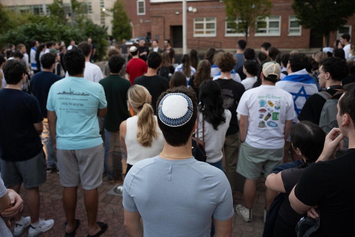
[[[130,235],[209,237],[212,217],[215,236],[231,236],[234,210],[228,179],[191,153],[191,136],[197,127],[195,93],[175,87],[162,93],[157,105],[163,151],[135,163],[123,184]]]

